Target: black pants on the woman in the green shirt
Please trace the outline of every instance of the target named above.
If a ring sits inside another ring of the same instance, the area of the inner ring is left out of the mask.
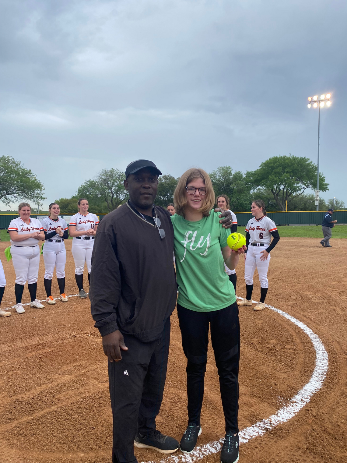
[[[177,304],[183,351],[187,362],[188,422],[200,425],[204,398],[208,332],[219,375],[225,431],[238,432],[240,323],[236,302],[213,312],[194,312]]]

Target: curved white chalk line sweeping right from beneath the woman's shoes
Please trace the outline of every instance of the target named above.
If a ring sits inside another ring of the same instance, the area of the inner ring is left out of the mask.
[[[242,298],[238,297],[237,299]],[[257,304],[257,301],[252,300],[252,302]],[[270,431],[270,429],[293,418],[310,401],[312,395],[322,388],[328,371],[328,352],[325,350],[320,338],[307,325],[292,317],[289,313],[283,312],[272,306],[266,305],[265,307],[290,320],[307,334],[316,350],[316,366],[310,381],[289,400],[288,405],[280,408],[277,413],[274,413],[269,418],[262,419],[258,421],[258,423],[239,432],[240,444],[246,444],[250,439],[263,436],[267,431]],[[161,459],[159,463],[192,463],[196,460],[201,460],[207,455],[219,452],[222,449],[223,442],[224,438],[221,438],[209,444],[198,445],[189,455],[184,453],[171,455],[170,457]]]

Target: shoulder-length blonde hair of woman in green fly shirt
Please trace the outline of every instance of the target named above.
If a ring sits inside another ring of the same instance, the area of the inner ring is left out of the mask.
[[[215,204],[216,198],[210,175],[208,175],[208,173],[205,172],[203,169],[188,169],[180,177],[180,180],[178,181],[177,187],[174,191],[174,208],[176,214],[184,216],[184,209],[187,204],[186,186],[195,178],[201,178],[204,181],[206,187],[204,202],[203,205],[198,209],[198,211],[202,212],[204,217],[207,217],[210,215],[210,211]]]

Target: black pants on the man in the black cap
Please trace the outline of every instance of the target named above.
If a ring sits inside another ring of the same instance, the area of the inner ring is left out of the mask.
[[[155,430],[167,371],[170,343],[170,319],[161,338],[143,343],[124,334],[128,350],[121,350],[122,360],[108,362],[108,379],[113,416],[113,463],[136,462],[136,431],[150,434]]]

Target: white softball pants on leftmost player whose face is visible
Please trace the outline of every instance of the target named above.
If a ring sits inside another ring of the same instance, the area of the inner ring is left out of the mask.
[[[37,282],[38,267],[40,265],[40,247],[17,247],[12,244],[11,255],[16,283],[24,286],[26,282]]]

